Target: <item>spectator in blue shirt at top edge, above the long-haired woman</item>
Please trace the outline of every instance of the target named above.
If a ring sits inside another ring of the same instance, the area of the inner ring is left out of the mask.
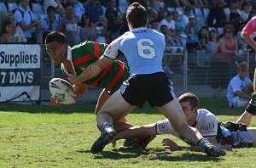
[[[90,16],[91,23],[96,26],[108,27],[102,5],[99,4],[99,0],[90,0],[90,2],[85,5],[84,10],[85,14]]]

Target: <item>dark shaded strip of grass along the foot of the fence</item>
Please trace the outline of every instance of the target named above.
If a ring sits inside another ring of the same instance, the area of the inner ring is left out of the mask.
[[[0,110],[6,112],[26,112],[26,113],[91,113],[95,111],[96,104],[72,104],[54,107],[53,105],[35,105],[32,104],[0,104]],[[201,98],[200,108],[209,109],[214,115],[241,115],[244,109],[229,108],[226,98]],[[136,108],[132,113],[137,114],[159,114],[159,109],[151,108],[149,104],[145,104],[143,109]]]

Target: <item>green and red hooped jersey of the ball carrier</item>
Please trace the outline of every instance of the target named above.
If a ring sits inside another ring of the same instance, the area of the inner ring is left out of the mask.
[[[71,49],[72,62],[77,75],[90,64],[96,62],[104,53],[108,44],[85,41],[79,43]],[[108,89],[111,93],[115,92],[122,85],[123,81],[129,77],[129,68],[127,64],[114,60],[113,64],[104,68],[100,74],[84,81],[84,83],[93,87],[102,87]]]

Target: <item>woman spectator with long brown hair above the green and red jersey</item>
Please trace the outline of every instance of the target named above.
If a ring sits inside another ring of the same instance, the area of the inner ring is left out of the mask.
[[[86,40],[95,42],[97,38],[96,27],[91,25],[90,17],[86,14],[82,15],[81,30],[79,36],[80,42],[84,42]]]

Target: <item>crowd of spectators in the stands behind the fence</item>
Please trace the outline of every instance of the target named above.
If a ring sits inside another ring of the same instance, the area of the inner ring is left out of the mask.
[[[98,36],[102,36],[101,31],[106,34],[104,36],[108,42],[113,41],[128,31],[125,8],[129,3],[126,2],[139,2],[148,8],[148,26],[160,31],[161,25],[166,25],[168,30],[166,36],[175,33],[178,38],[178,42],[172,42],[173,47],[187,48],[189,53],[207,50],[210,41],[208,36],[212,28],[218,36],[221,36],[224,25],[234,25],[234,36],[238,37],[241,25],[246,24],[255,15],[256,9],[256,1],[253,0],[5,0],[2,2],[8,11],[9,3],[17,4],[17,8],[9,13],[15,14],[15,25],[23,31],[26,42],[37,42],[33,38],[35,36],[32,36],[37,30],[43,30],[44,36],[49,31],[57,30],[63,31],[73,39],[73,43],[70,43],[72,46],[86,39],[96,41]],[[40,5],[42,14],[34,13],[32,3]],[[201,10],[201,18],[195,14],[195,9],[198,8]],[[206,14],[205,10],[208,11]],[[86,25],[88,21],[85,18],[90,21],[89,25]],[[203,20],[203,25],[198,24],[199,20]],[[6,34],[3,25],[7,26],[6,24],[6,20],[4,24],[0,23],[1,42],[6,42],[3,41],[3,34]],[[168,46],[170,47],[170,44]],[[238,47],[244,48],[244,43]]]

